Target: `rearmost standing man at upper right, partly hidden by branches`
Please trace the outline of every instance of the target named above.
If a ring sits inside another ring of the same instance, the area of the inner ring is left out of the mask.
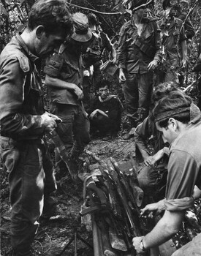
[[[182,20],[177,15],[176,5],[164,1],[164,16],[158,21],[162,31],[162,65],[159,67],[158,83],[174,82],[179,84],[179,75],[186,67],[186,34]]]

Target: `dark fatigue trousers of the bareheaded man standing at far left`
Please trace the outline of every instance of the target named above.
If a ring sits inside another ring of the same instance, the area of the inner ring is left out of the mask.
[[[45,140],[0,137],[1,159],[9,171],[11,245],[28,252],[42,214],[44,195],[56,189],[53,163]]]

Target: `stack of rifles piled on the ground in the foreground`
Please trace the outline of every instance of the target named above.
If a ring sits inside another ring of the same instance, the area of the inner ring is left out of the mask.
[[[96,163],[89,165],[90,173],[82,173],[84,203],[80,215],[87,230],[92,230],[94,256],[134,256],[134,236],[150,232],[160,217],[140,216],[144,193],[137,184],[137,165],[132,156],[126,165],[118,165],[110,157],[103,161],[86,151]],[[197,211],[200,211],[197,207]],[[180,233],[143,255],[170,256],[176,249],[201,232],[194,209],[186,211],[186,221]]]

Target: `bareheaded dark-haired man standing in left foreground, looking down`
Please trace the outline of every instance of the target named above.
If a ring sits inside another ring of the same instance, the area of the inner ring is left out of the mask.
[[[26,29],[1,52],[0,153],[10,172],[12,256],[34,255],[31,242],[44,200],[56,189],[44,134],[61,119],[43,108],[39,58],[53,53],[71,31],[65,1],[37,1]]]

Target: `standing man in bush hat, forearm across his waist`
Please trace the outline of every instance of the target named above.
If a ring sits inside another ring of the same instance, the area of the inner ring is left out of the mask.
[[[72,178],[77,178],[77,158],[89,142],[89,121],[83,108],[82,53],[92,37],[88,18],[81,12],[72,15],[75,31],[61,45],[58,53],[50,56],[44,72],[45,84],[50,91],[50,112],[62,120],[57,132],[69,152],[69,168]],[[67,170],[56,152],[58,170]]]

